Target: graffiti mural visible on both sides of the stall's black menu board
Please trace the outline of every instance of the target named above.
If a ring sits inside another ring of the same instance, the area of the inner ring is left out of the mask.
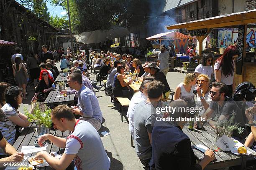
[[[228,28],[218,30],[218,47],[228,47],[237,42],[238,29]],[[256,28],[247,28],[246,42],[253,47],[256,45]]]

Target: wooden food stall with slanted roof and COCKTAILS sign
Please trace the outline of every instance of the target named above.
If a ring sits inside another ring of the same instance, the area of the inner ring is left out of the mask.
[[[199,55],[202,53],[202,41],[213,28],[238,28],[237,47],[240,52],[236,60],[235,82],[239,85],[241,82],[250,81],[256,85],[256,62],[248,62],[246,58],[246,30],[247,25],[255,26],[256,10],[248,10],[239,13],[231,13],[202,20],[190,21],[166,26],[168,30],[187,28],[199,41]]]

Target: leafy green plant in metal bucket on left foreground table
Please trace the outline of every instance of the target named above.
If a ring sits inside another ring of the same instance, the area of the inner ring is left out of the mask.
[[[51,109],[49,106],[45,105],[45,110],[42,111],[39,107],[39,103],[35,103],[35,108],[33,114],[29,114],[26,107],[24,107],[25,115],[29,122],[36,122],[37,134],[38,136],[50,133],[51,129]]]

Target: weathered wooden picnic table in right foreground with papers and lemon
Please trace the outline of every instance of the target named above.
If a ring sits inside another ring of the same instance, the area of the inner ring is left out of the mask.
[[[214,145],[215,143],[215,130],[210,127],[210,125],[204,125],[202,130],[189,130],[188,125],[185,125],[183,128],[183,132],[190,138],[192,149],[194,151],[195,156],[198,160],[204,158],[204,153],[200,150],[197,150],[195,145],[205,145],[207,148],[212,150],[217,149]],[[251,155],[235,155],[229,152],[217,151],[215,152],[216,161],[211,162],[205,167],[205,170],[214,170],[218,168],[226,168],[230,166],[240,165],[240,170],[244,170],[246,168],[246,161],[252,157],[256,156],[256,152],[246,147],[247,150],[252,151]]]

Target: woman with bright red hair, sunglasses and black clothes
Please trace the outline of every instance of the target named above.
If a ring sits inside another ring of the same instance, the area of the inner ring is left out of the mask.
[[[52,87],[53,83],[54,83],[54,80],[51,77],[51,75],[49,75],[49,72],[47,70],[41,70],[39,82],[35,88],[34,97],[36,97],[39,94],[39,92],[41,92],[44,95],[44,97],[47,97],[50,91],[53,90],[53,87]],[[34,100],[34,97],[32,98],[32,101]]]

